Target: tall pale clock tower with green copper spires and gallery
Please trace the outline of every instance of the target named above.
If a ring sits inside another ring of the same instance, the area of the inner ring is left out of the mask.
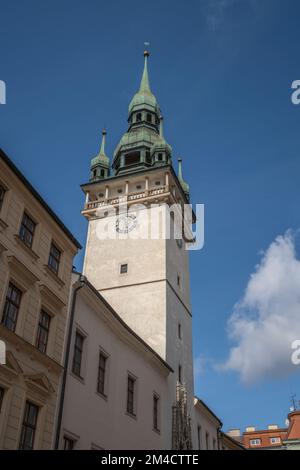
[[[185,384],[191,415],[189,252],[181,237],[189,186],[182,176],[181,160],[178,176],[172,166],[172,148],[164,137],[163,118],[150,88],[148,57],[146,51],[140,87],[129,105],[128,130],[113,155],[113,174],[105,167],[103,176],[92,174],[82,185],[86,194],[82,214],[88,220],[83,273],[174,370],[168,378],[170,415],[178,382]],[[92,169],[100,165],[100,154]],[[158,228],[154,236],[145,236],[150,231],[149,219],[151,227]],[[166,236],[169,222],[170,237]],[[107,236],[108,228],[115,238]]]

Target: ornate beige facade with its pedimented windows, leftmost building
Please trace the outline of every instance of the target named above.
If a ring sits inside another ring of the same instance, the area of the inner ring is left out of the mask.
[[[51,449],[79,243],[0,150],[0,448]]]

